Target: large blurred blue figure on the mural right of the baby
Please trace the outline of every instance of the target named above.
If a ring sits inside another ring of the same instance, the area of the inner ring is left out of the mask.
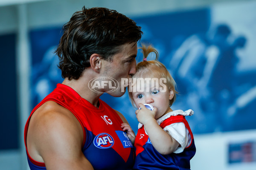
[[[236,51],[245,45],[244,36],[233,35],[227,24],[218,24],[188,37],[170,60],[181,97],[187,100],[183,104],[198,111],[198,133],[232,130],[227,109],[238,97]],[[201,128],[203,122],[207,127]]]

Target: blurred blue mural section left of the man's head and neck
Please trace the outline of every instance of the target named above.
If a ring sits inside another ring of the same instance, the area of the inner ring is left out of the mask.
[[[53,52],[61,38],[60,28],[38,29],[30,32],[32,49],[32,107],[63,81],[57,67],[58,56]]]

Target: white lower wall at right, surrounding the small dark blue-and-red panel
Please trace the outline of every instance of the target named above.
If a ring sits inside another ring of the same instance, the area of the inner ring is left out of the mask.
[[[195,135],[196,154],[191,160],[193,170],[255,170],[254,163],[229,164],[228,145],[256,141],[256,130]]]

